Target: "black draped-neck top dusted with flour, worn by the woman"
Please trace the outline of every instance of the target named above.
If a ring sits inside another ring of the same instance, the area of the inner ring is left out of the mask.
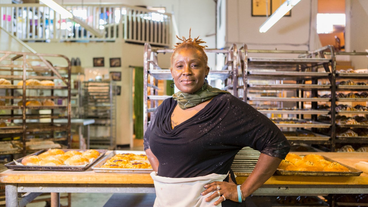
[[[176,101],[165,99],[144,134],[144,150],[159,161],[158,175],[191,178],[226,174],[237,152],[251,147],[284,159],[290,144],[265,115],[230,94],[213,98],[190,119],[171,127]]]

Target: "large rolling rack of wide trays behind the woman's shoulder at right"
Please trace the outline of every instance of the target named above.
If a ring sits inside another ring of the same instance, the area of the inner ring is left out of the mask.
[[[325,46],[314,51],[314,57],[308,51],[247,50],[245,45],[242,49],[244,100],[272,119],[290,143],[327,145],[335,151],[335,125],[332,120],[317,121],[318,115],[335,115],[335,96],[319,96],[335,94],[335,49]],[[325,51],[332,57],[322,56]],[[249,57],[249,53],[271,55]],[[318,103],[328,103],[331,110],[319,109]],[[330,134],[316,133],[321,128]]]

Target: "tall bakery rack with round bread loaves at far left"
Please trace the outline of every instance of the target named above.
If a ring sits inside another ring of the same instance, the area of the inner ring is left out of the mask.
[[[63,62],[66,67],[53,66],[49,60]],[[60,147],[70,147],[70,66],[63,55],[0,51],[0,78],[10,81],[0,85],[0,100],[5,103],[0,106],[0,120],[6,123],[0,127],[0,144],[10,145],[10,150],[0,154],[25,155],[39,150],[28,148],[28,141],[56,141]],[[27,85],[29,79],[50,80],[55,85]],[[33,99],[51,99],[55,104],[26,105]],[[60,118],[67,119],[67,123],[55,124],[54,119]]]

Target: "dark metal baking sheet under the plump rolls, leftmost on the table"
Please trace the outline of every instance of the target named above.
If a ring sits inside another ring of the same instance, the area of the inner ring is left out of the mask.
[[[86,151],[86,150],[80,150],[80,149],[61,149],[63,151],[70,151],[70,150],[76,150],[76,151]],[[43,152],[46,152],[47,150],[40,150],[37,151],[35,153],[32,153],[30,155],[27,155],[25,157],[31,156],[31,155],[39,155]],[[14,161],[9,162],[7,164],[5,164],[5,166],[8,169],[13,169],[13,170],[28,170],[28,171],[85,171],[86,169],[88,169],[89,167],[91,167],[93,164],[95,164],[101,157],[103,157],[103,155],[105,155],[107,150],[97,150],[98,152],[100,152],[100,156],[98,156],[98,158],[96,158],[95,160],[93,160],[90,164],[86,165],[86,166],[67,166],[67,165],[62,165],[62,166],[25,166],[25,165],[17,165],[15,164]],[[15,161],[21,163],[22,159],[25,158],[19,158]]]

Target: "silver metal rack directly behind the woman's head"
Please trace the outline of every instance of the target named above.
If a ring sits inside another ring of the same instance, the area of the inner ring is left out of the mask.
[[[237,49],[235,44],[229,49],[205,49],[206,53],[224,54],[225,61],[221,70],[210,70],[208,78],[210,80],[221,80],[222,89],[229,91],[236,97],[243,99],[245,86],[243,84],[244,61],[240,58],[243,56],[244,49]],[[152,113],[159,106],[159,101],[171,96],[158,95],[158,80],[171,80],[171,73],[168,69],[161,69],[158,65],[159,53],[172,53],[172,49],[152,49],[149,43],[144,45],[144,92],[143,92],[143,116],[144,131],[148,126],[148,113]],[[234,87],[235,86],[235,87]]]

